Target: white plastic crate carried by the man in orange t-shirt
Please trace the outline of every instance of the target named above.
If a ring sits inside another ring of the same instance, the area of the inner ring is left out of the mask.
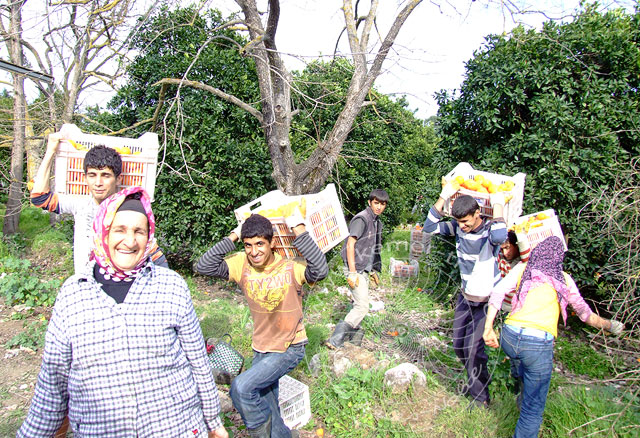
[[[243,221],[251,214],[262,214],[273,225],[273,249],[283,257],[299,257],[293,247],[295,235],[285,223],[281,213],[291,203],[298,203],[304,210],[304,224],[311,238],[323,253],[338,245],[349,235],[349,228],[342,212],[338,193],[333,184],[319,193],[287,196],[274,190],[243,205],[234,211],[236,219]]]

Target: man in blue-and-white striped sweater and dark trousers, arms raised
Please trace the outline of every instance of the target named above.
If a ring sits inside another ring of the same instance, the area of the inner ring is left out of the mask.
[[[489,405],[490,376],[482,333],[487,315],[487,302],[500,280],[497,257],[507,239],[502,217],[504,194],[490,195],[493,219],[480,216],[478,202],[469,195],[458,197],[451,207],[455,220],[441,222],[442,209],[457,189],[447,183],[429,210],[423,232],[454,236],[462,289],[458,296],[453,321],[453,349],[467,371],[465,393],[479,406]]]

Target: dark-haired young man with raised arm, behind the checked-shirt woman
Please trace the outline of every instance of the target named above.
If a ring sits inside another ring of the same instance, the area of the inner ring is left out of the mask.
[[[112,148],[96,146],[84,158],[84,174],[89,188],[89,198],[77,195],[59,195],[49,187],[49,175],[53,167],[58,145],[63,139],[61,132],[49,134],[47,151],[38,168],[31,190],[31,203],[52,213],[70,213],[74,218],[73,266],[81,273],[89,261],[93,229],[91,224],[102,201],[113,195],[121,180],[122,158]],[[167,260],[156,248],[152,255],[156,265],[168,267]]]

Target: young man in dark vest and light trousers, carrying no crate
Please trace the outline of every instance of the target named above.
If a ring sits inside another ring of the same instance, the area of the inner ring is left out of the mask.
[[[360,345],[363,329],[360,323],[369,312],[369,278],[380,284],[378,273],[382,270],[380,250],[382,248],[382,221],[380,215],[387,208],[389,195],[381,189],[369,194],[369,206],[355,215],[349,223],[349,237],[342,247],[347,283],[353,296],[353,308],[336,324],[325,345],[340,348],[345,341]]]

